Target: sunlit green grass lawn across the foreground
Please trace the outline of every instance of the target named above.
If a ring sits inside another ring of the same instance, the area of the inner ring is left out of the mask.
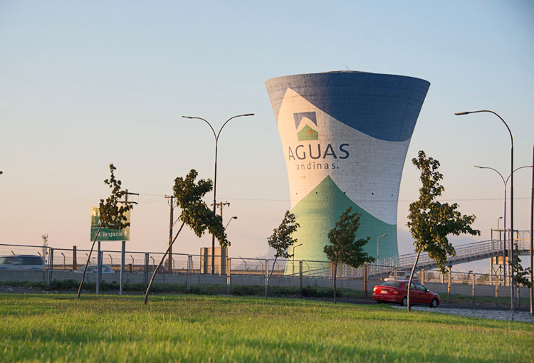
[[[533,362],[534,325],[253,297],[0,295],[1,361]]]

